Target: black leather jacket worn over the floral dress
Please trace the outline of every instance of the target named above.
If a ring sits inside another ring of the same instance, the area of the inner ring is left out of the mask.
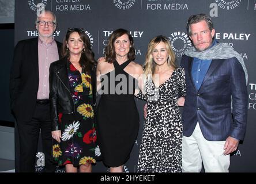
[[[69,78],[67,77],[67,58],[64,57],[50,66],[50,104],[51,104],[51,131],[58,131],[58,114],[74,114],[74,101],[71,97]],[[96,65],[91,71],[93,105],[96,105]]]

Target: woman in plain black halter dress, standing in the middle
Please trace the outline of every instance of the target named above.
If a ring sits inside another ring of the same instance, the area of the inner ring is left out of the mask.
[[[105,59],[97,64],[101,98],[96,128],[103,162],[111,173],[123,171],[138,135],[140,120],[134,92],[143,70],[134,59],[133,37],[127,30],[117,29],[108,40]]]

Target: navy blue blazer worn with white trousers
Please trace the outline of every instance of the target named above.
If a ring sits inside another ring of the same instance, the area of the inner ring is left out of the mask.
[[[247,87],[242,65],[235,57],[212,60],[197,91],[191,75],[192,64],[192,57],[182,56],[180,66],[185,68],[187,85],[182,113],[183,135],[191,136],[198,121],[206,140],[223,141],[228,136],[243,140]]]

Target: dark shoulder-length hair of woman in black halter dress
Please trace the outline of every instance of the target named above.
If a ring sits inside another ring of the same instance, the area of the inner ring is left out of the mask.
[[[126,29],[116,29],[108,39],[108,45],[106,47],[106,52],[105,52],[105,58],[106,62],[108,63],[113,63],[115,58],[116,58],[116,53],[115,53],[115,40],[118,39],[119,37],[123,36],[123,34],[127,34],[130,40],[130,51],[128,52],[128,59],[133,61],[135,60],[135,49],[134,49],[134,42],[133,42],[133,37],[131,34],[128,32]]]

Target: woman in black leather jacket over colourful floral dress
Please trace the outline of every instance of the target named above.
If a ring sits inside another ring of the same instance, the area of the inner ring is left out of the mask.
[[[91,172],[96,146],[96,62],[84,29],[69,28],[63,57],[50,66],[53,158],[66,172]]]

